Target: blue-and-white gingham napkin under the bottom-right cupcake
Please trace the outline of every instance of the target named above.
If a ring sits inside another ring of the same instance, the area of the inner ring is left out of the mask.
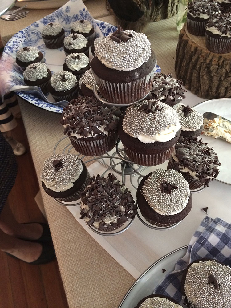
[[[156,287],[154,293],[174,298],[184,306],[182,300],[181,278],[189,263],[201,259],[216,259],[231,266],[231,224],[206,216],[194,233],[185,256],[176,262],[175,270],[167,274]]]

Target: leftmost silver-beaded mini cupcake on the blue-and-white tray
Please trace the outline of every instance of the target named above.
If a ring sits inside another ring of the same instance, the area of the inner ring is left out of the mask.
[[[44,62],[43,54],[36,47],[26,46],[16,53],[16,63],[25,69],[28,65]]]

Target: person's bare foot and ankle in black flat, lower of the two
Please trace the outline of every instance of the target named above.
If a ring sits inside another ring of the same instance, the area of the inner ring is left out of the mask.
[[[42,253],[42,245],[36,242],[20,240],[4,233],[0,229],[0,250],[26,262],[34,262]]]

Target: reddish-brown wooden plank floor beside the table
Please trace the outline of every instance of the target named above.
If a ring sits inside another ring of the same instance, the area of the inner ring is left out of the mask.
[[[13,130],[27,153],[17,156],[18,175],[8,197],[19,222],[44,222],[35,195],[39,183],[34,170],[22,119]],[[68,308],[57,261],[44,265],[29,265],[0,251],[0,308]]]

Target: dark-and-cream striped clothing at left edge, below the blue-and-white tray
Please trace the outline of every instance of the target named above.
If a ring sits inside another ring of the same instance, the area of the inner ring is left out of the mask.
[[[8,132],[17,126],[14,115],[20,112],[17,96],[14,92],[4,95],[2,102],[0,95],[0,131]]]

